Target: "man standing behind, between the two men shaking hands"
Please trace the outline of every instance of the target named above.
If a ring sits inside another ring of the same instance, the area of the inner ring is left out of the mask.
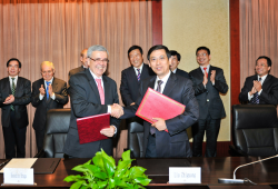
[[[125,106],[133,105],[138,98],[141,80],[155,76],[149,66],[143,63],[142,48],[132,46],[128,50],[130,67],[121,71],[120,93]]]

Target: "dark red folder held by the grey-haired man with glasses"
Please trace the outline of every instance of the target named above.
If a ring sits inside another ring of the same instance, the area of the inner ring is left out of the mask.
[[[80,145],[108,139],[108,137],[100,133],[100,130],[109,127],[110,127],[109,113],[78,118],[77,129],[78,129]]]

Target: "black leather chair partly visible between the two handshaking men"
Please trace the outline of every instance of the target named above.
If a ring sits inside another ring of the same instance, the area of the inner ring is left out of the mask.
[[[138,117],[127,120],[128,123],[128,149],[131,158],[143,158],[143,126]],[[127,150],[127,149],[126,149]]]

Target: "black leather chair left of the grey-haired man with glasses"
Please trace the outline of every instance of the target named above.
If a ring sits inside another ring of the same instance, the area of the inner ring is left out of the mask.
[[[34,158],[63,158],[63,145],[70,125],[70,108],[52,109],[47,113],[43,148]]]

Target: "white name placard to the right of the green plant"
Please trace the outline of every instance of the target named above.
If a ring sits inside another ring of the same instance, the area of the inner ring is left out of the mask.
[[[169,183],[201,183],[201,168],[169,167]]]

